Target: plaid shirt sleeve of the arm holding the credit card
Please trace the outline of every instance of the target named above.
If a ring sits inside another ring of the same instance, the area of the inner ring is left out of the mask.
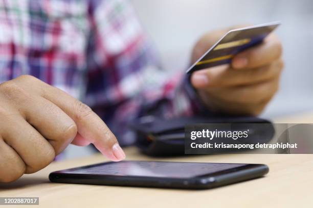
[[[93,1],[88,11],[92,30],[85,102],[122,145],[134,142],[127,127],[133,119],[145,115],[168,119],[199,111],[188,77],[161,69],[128,1]]]

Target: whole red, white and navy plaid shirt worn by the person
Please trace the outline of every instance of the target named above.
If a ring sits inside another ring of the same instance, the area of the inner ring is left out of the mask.
[[[0,83],[31,74],[91,106],[122,145],[144,115],[191,115],[127,0],[0,0]]]

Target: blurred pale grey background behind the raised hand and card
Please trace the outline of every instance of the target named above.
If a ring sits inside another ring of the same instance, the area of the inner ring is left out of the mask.
[[[171,72],[189,67],[193,45],[208,31],[280,20],[282,25],[275,32],[284,47],[285,68],[280,90],[261,116],[271,119],[313,111],[313,1],[129,1],[159,50],[163,68]],[[74,145],[67,149],[66,158],[92,153]]]

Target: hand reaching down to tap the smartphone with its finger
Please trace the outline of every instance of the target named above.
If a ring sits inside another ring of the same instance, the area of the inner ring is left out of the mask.
[[[105,123],[69,94],[29,75],[0,85],[0,182],[46,167],[70,143],[125,158]]]

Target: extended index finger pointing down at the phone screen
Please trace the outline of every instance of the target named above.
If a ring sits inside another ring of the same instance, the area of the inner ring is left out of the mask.
[[[125,158],[125,153],[115,135],[90,107],[68,93],[35,77],[30,76],[28,79],[32,81],[29,86],[34,86],[33,82],[38,83],[38,86],[40,86],[36,86],[33,91],[37,91],[39,95],[53,102],[73,119],[77,125],[77,132],[81,137],[93,143],[102,154],[112,161],[121,161]]]

